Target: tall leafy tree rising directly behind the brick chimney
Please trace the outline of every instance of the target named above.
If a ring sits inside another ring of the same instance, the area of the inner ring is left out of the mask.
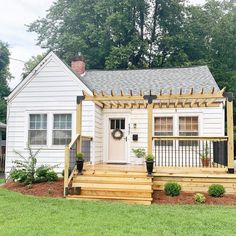
[[[57,0],[29,26],[38,44],[88,68],[146,68],[179,60],[185,0]],[[173,62],[174,63],[174,62]]]

